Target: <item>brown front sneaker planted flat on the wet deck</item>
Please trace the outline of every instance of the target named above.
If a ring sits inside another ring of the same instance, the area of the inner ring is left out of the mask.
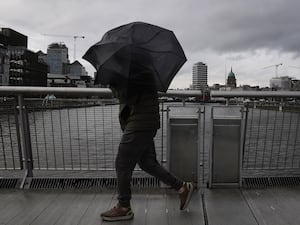
[[[133,219],[134,213],[131,208],[125,208],[117,204],[112,209],[101,213],[101,217],[104,221],[120,221]]]

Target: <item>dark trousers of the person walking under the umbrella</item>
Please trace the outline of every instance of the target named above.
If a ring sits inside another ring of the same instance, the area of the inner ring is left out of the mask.
[[[156,130],[125,132],[122,136],[116,158],[119,203],[123,207],[130,206],[132,172],[138,164],[142,170],[157,177],[175,190],[179,190],[183,182],[170,174],[156,159],[153,138]]]

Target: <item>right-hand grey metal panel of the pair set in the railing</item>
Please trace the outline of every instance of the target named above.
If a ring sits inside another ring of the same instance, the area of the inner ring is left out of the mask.
[[[242,108],[212,108],[210,188],[240,187],[242,152]]]

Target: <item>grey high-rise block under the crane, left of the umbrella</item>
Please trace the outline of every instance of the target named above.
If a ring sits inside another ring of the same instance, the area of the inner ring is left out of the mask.
[[[47,64],[51,74],[67,74],[69,55],[64,43],[52,43],[47,49]]]

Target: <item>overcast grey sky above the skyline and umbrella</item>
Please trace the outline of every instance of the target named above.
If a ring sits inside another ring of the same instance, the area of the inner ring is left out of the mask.
[[[27,35],[33,51],[64,42],[71,61],[72,36],[85,36],[76,41],[76,58],[92,75],[85,51],[107,30],[143,21],[173,30],[182,44],[188,61],[172,88],[189,87],[199,61],[208,65],[209,85],[224,84],[232,67],[238,85],[269,86],[279,63],[279,76],[300,79],[299,11],[299,0],[3,0],[0,27]]]

